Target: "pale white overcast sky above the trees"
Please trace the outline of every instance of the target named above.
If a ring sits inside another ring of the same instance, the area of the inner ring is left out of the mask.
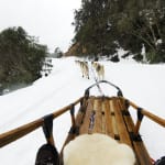
[[[74,37],[74,10],[81,0],[0,0],[0,32],[22,26],[51,52],[67,51]]]

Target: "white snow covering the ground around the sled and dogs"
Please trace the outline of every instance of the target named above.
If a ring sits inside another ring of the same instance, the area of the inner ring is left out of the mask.
[[[101,62],[106,69],[106,80],[119,86],[123,96],[150,112],[165,119],[165,65],[144,65],[136,63]],[[74,57],[53,59],[50,76],[42,77],[32,86],[0,96],[0,133],[34,121],[52,113],[84,95],[92,85],[94,78],[85,79]],[[106,95],[114,96],[116,90],[107,85]],[[97,88],[92,90],[98,94]],[[135,111],[130,109],[135,120]],[[69,113],[54,120],[54,138],[58,151],[69,130]],[[157,160],[165,154],[165,129],[147,118],[143,119],[140,133],[152,158]],[[38,147],[45,143],[42,129],[37,129],[24,138],[3,146],[0,160],[3,165],[34,164]]]

